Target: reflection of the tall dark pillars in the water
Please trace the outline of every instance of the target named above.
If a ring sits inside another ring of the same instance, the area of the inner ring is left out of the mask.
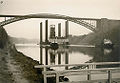
[[[45,55],[43,52],[45,52]],[[45,56],[45,58],[43,58],[43,56]],[[67,47],[59,47],[59,49],[53,50],[48,47],[40,47],[40,64],[69,64],[69,49]],[[68,69],[68,67],[65,67],[65,69]]]

